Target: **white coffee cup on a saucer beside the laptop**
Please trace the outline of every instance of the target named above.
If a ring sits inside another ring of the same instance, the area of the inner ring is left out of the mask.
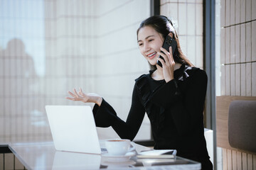
[[[129,152],[130,140],[106,140],[105,145],[107,152],[111,155],[124,155]]]

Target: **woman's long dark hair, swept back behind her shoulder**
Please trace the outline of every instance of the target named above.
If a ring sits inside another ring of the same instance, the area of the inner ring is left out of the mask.
[[[141,28],[144,28],[145,26],[151,26],[151,28],[154,28],[156,32],[160,33],[163,38],[166,38],[166,36],[169,33],[173,33],[174,39],[177,42],[177,47],[174,52],[174,62],[180,63],[180,64],[186,64],[188,66],[193,67],[191,61],[188,60],[188,58],[183,54],[181,51],[181,45],[178,41],[178,35],[174,29],[173,23],[167,18],[166,16],[151,16],[149,18],[146,18],[146,20],[142,21],[140,24],[138,30],[137,30],[137,38],[138,33]],[[150,65],[150,69],[156,69],[156,66]]]

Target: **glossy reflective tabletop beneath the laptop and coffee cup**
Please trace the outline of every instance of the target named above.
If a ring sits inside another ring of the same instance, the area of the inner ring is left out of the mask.
[[[100,141],[101,147],[103,143]],[[134,142],[132,145],[136,152],[150,149]],[[100,154],[57,151],[53,142],[10,143],[9,149],[27,169],[201,169],[200,163],[182,157],[137,159],[134,156],[124,162],[113,162]]]

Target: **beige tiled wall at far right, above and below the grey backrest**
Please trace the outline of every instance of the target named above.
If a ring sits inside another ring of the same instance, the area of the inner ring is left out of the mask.
[[[220,1],[222,96],[256,96],[256,1]],[[256,155],[223,149],[223,169],[256,169]]]

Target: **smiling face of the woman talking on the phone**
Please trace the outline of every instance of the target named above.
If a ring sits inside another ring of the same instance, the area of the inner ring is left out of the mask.
[[[156,65],[157,52],[160,52],[160,47],[163,45],[164,38],[162,35],[151,26],[144,26],[138,33],[139,50],[146,60],[151,65]]]

